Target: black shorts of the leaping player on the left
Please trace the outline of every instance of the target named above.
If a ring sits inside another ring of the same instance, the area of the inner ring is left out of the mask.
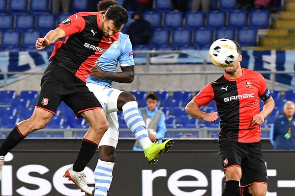
[[[77,117],[81,112],[102,108],[84,81],[59,65],[50,63],[41,79],[41,91],[36,107],[55,114],[61,101],[68,105]]]

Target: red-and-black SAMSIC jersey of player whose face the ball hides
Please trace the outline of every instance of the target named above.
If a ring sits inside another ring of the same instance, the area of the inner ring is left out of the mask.
[[[266,93],[266,80],[258,72],[242,68],[242,75],[230,79],[223,74],[194,97],[200,105],[215,100],[220,116],[219,139],[242,143],[260,141],[260,125],[252,125],[253,116],[260,112],[260,96]]]

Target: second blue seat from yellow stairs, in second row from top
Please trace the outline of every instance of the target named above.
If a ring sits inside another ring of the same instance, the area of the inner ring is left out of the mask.
[[[245,10],[233,10],[229,12],[229,24],[230,28],[239,28],[247,25],[248,12]]]

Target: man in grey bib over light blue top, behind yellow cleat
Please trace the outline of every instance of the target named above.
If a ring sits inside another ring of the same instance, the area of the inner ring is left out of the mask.
[[[150,93],[147,97],[147,106],[139,109],[139,113],[146,123],[149,139],[152,142],[157,140],[162,143],[162,138],[166,133],[165,114],[158,110],[157,104],[158,97],[154,93]],[[143,148],[136,141],[133,150],[143,151]]]

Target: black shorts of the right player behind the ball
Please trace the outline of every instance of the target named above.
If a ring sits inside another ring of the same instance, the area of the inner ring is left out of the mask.
[[[260,142],[239,143],[230,140],[219,140],[218,143],[223,171],[233,166],[241,168],[241,187],[258,182],[267,184],[266,165],[263,160]]]

